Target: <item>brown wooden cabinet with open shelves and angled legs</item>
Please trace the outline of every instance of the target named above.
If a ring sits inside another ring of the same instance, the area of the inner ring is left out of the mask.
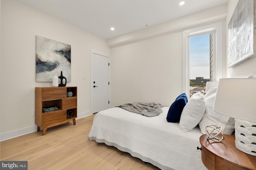
[[[67,92],[73,95],[67,97]],[[45,135],[48,127],[73,121],[76,125],[77,118],[77,87],[36,87],[35,110],[37,131],[43,128]],[[58,110],[43,112],[43,108],[56,107]]]

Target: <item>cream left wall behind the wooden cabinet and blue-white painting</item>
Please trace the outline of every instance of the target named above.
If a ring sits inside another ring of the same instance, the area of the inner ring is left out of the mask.
[[[90,50],[110,55],[106,40],[40,12],[18,0],[1,0],[1,140],[36,131],[36,35],[71,45],[71,82],[78,86],[78,117],[90,113]],[[86,80],[83,80],[83,75]],[[65,75],[64,75],[65,76]]]

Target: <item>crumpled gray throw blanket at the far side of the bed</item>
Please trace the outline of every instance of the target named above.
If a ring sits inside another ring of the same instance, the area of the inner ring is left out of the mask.
[[[156,104],[156,103],[141,103],[141,102],[134,102],[134,103],[128,103],[128,104],[123,104],[120,106],[116,107],[121,107],[122,109],[138,113],[147,117],[153,117],[157,116],[160,113],[163,112],[161,107],[161,104]]]

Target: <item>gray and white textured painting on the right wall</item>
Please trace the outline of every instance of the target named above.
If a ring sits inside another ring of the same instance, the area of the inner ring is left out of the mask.
[[[255,56],[255,0],[239,0],[228,23],[228,67]]]

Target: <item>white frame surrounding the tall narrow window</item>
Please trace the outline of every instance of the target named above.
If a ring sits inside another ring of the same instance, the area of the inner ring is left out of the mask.
[[[212,33],[211,81],[222,78],[222,22],[183,31],[182,91],[189,96],[190,86],[190,37]]]

